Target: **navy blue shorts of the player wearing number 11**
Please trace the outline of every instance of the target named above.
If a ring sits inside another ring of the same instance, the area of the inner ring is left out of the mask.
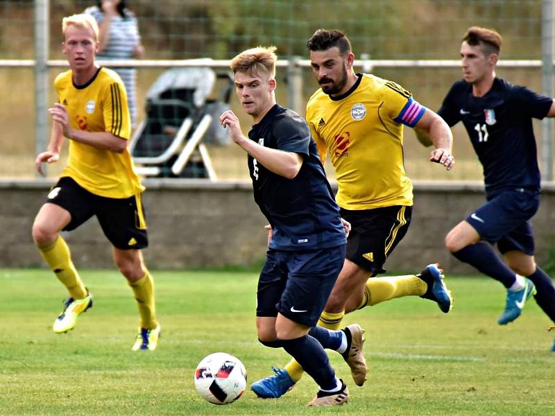
[[[518,250],[533,255],[531,218],[540,206],[540,193],[527,189],[504,191],[473,211],[466,222],[481,239],[497,243],[502,253]]]

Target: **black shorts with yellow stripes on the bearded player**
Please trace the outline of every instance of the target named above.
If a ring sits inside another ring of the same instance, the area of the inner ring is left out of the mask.
[[[395,205],[352,211],[341,208],[341,217],[351,223],[347,259],[373,274],[384,273],[384,263],[402,240],[411,223],[412,207]]]

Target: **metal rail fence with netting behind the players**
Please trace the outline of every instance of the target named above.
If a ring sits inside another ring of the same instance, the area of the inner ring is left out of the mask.
[[[95,3],[0,0],[1,177],[33,175],[34,155],[49,139],[46,108],[56,100],[52,81],[66,67],[61,18]],[[278,101],[304,114],[316,89],[305,42],[318,27],[346,31],[360,70],[395,80],[434,110],[460,78],[458,51],[466,28],[492,27],[504,37],[498,75],[553,95],[553,0],[139,0],[128,6],[139,21],[146,59],[118,64],[138,69],[139,107],[169,67],[225,68],[243,49],[275,44],[281,58]],[[536,124],[543,175],[551,180],[551,123]],[[451,176],[428,166],[427,150],[410,129],[406,132],[407,171],[413,179],[480,179],[481,168],[460,126],[454,129],[458,166]],[[246,177],[244,154],[237,148],[209,146],[208,151],[219,177]],[[56,166],[49,172],[57,173]]]

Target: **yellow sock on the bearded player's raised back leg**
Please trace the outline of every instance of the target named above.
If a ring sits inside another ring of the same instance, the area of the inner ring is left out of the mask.
[[[386,300],[426,293],[428,285],[416,275],[370,277],[366,281],[364,297],[359,309],[365,306],[374,306]]]

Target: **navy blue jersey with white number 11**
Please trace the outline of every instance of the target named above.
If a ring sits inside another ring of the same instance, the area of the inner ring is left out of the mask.
[[[552,98],[495,78],[484,96],[459,80],[445,96],[438,114],[448,125],[459,121],[470,136],[484,168],[488,197],[507,189],[540,189],[540,171],[532,117],[543,119]]]

